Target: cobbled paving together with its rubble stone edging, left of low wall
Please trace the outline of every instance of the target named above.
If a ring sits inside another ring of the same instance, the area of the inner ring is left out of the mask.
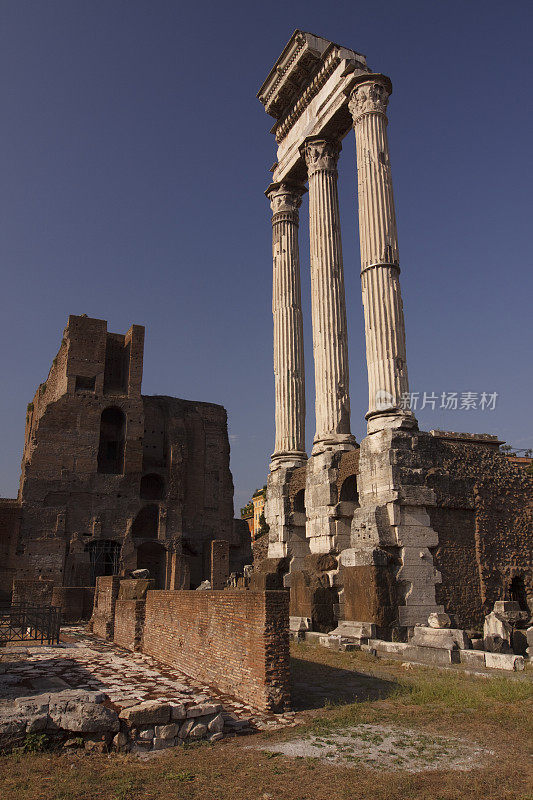
[[[37,731],[68,747],[81,737],[86,749],[139,752],[295,724],[292,713],[258,712],[81,627],[64,634],[57,647],[4,650],[0,749]]]

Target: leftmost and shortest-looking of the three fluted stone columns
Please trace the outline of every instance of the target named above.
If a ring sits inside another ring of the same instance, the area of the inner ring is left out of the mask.
[[[276,441],[272,466],[297,465],[305,453],[305,368],[303,346],[298,209],[302,185],[272,184],[274,380]]]

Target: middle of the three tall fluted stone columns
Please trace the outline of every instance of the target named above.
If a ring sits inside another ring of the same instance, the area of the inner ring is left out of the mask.
[[[354,445],[350,433],[348,332],[337,193],[340,144],[307,139],[311,311],[315,360],[316,433],[313,453]]]

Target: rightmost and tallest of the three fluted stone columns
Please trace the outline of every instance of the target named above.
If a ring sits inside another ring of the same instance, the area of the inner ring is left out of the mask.
[[[349,100],[357,144],[369,433],[416,426],[408,406],[403,408],[409,382],[385,113],[391,92],[390,79],[384,75],[361,75]]]

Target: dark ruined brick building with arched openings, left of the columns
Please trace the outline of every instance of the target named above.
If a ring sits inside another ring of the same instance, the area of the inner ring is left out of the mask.
[[[148,568],[156,588],[209,577],[210,545],[250,561],[234,526],[226,411],[141,394],[144,328],[70,316],[28,405],[20,488],[0,500],[0,592],[13,579],[94,586]],[[246,533],[246,527],[245,527]]]

